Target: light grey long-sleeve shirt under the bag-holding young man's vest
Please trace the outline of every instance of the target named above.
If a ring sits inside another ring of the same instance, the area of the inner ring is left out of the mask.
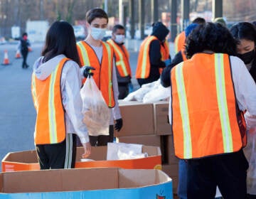
[[[103,53],[103,47],[102,45],[97,47],[97,46],[93,46],[90,45],[90,47],[95,51],[95,54],[97,55],[97,58],[99,60],[99,62],[101,63],[102,60],[102,53]],[[113,58],[114,59],[114,58]],[[115,67],[115,62],[114,60],[112,61],[113,63],[113,69],[112,69],[112,87],[113,87],[113,94],[114,94],[114,102],[115,105],[114,107],[111,109],[111,116],[110,116],[110,125],[114,124],[114,119],[120,119],[122,118],[121,113],[120,113],[120,109],[119,109],[119,104],[118,104],[118,96],[119,96],[119,90],[118,90],[118,84],[117,84],[117,71],[116,71],[116,67]],[[84,68],[81,68],[80,70],[80,74],[82,75]]]

